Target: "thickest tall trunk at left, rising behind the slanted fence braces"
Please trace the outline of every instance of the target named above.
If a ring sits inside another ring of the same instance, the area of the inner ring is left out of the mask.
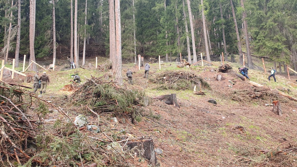
[[[30,59],[35,62],[35,51],[34,51],[34,41],[35,41],[35,11],[36,11],[36,1],[30,0],[30,24],[29,24],[29,41],[30,41]],[[35,63],[32,63],[30,67],[31,71],[37,71],[37,67]]]

